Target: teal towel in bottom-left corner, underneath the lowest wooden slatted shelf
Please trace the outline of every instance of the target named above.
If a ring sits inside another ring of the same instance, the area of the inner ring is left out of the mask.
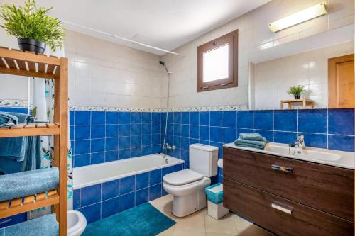
[[[58,222],[55,214],[43,215],[33,220],[27,220],[16,225],[0,229],[1,236],[57,236]]]

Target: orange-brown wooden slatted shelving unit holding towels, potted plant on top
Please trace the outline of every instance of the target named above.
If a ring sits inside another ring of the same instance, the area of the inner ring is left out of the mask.
[[[54,166],[59,169],[58,189],[2,201],[0,218],[54,205],[60,236],[67,235],[67,67],[68,61],[65,57],[35,55],[0,47],[0,74],[55,80],[54,123],[18,124],[11,128],[0,128],[0,137],[55,135]]]

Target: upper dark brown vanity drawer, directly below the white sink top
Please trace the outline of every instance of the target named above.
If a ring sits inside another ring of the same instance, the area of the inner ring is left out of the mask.
[[[354,171],[224,148],[224,178],[354,221]]]

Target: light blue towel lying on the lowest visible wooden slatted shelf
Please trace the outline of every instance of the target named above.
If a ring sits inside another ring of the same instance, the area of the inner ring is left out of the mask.
[[[57,189],[58,173],[58,168],[53,167],[0,175],[0,201]]]

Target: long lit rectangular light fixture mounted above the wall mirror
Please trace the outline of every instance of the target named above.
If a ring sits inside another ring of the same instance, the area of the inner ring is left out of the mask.
[[[325,7],[325,1],[314,6],[310,6],[307,9],[302,11],[297,11],[290,16],[286,16],[284,18],[280,18],[273,23],[268,24],[268,28],[270,28],[273,33],[283,30],[285,28],[289,28],[291,26],[295,26],[299,23],[309,21],[312,18],[317,18],[318,16],[323,16],[327,14],[327,8]]]

